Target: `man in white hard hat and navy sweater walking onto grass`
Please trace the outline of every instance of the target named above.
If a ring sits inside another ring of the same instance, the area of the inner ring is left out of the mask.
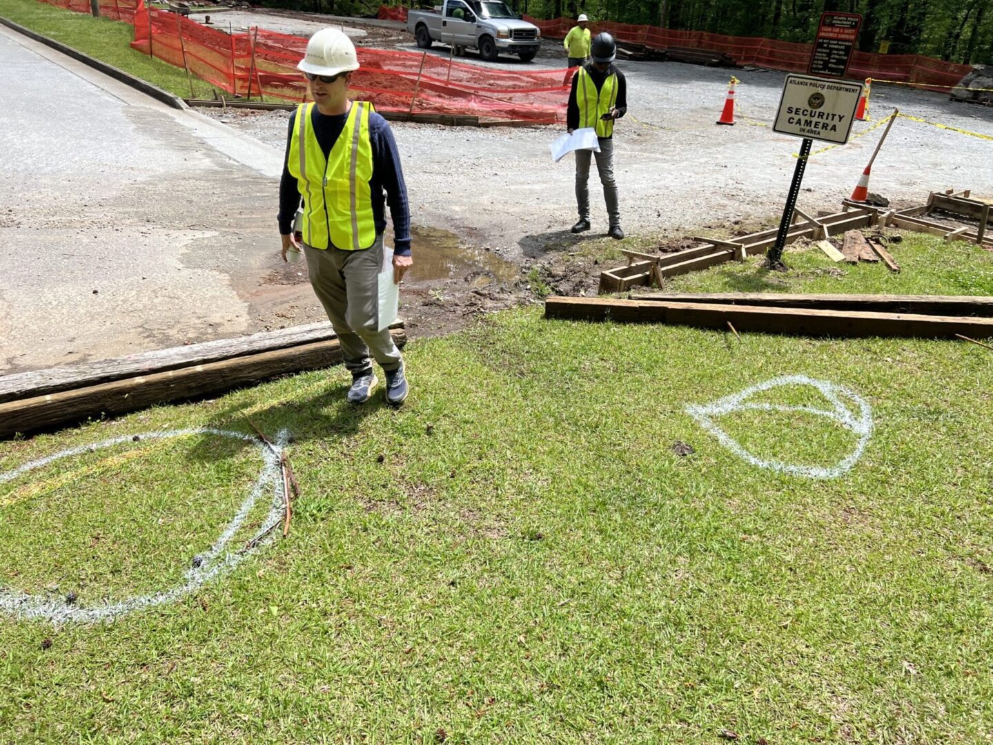
[[[358,58],[345,33],[317,32],[297,68],[307,77],[314,102],[290,116],[279,188],[283,260],[301,248],[307,256],[311,285],[352,373],[349,400],[364,403],[378,384],[371,355],[386,376],[386,401],[399,405],[407,397],[403,358],[389,330],[378,331],[384,198],[395,236],[393,281],[399,283],[412,263],[410,210],[396,142],[372,104],[349,99]],[[293,223],[301,198],[299,240]]]

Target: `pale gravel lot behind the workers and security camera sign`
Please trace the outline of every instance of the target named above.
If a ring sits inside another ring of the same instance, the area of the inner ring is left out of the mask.
[[[416,49],[412,43],[402,45]],[[557,43],[530,66],[558,67]],[[439,49],[434,54],[446,54]],[[486,67],[472,57],[470,64]],[[507,61],[498,67],[519,69]],[[800,141],[768,123],[779,104],[783,74],[730,71],[678,63],[626,63],[629,116],[616,129],[622,219],[631,233],[678,235],[705,226],[778,218]],[[734,127],[716,121],[732,72],[739,113]],[[877,84],[870,113],[903,113],[993,136],[993,108],[953,103],[946,95]],[[213,115],[283,148],[285,112]],[[745,116],[748,119],[745,118]],[[754,122],[754,123],[750,123]],[[856,122],[855,138],[811,158],[799,205],[833,210],[848,197],[882,128]],[[761,124],[767,124],[766,126]],[[475,129],[394,123],[415,224],[454,231],[514,261],[539,250],[576,219],[573,160],[555,164],[549,143],[557,127]],[[815,143],[815,151],[818,149]],[[993,196],[993,142],[899,119],[873,167],[870,189],[895,203],[918,203],[928,191],[971,189]],[[594,232],[606,231],[603,199],[591,184]]]

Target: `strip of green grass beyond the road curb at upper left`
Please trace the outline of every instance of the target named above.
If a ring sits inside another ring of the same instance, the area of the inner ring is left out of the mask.
[[[93,18],[37,0],[0,0],[0,16],[72,47],[125,73],[158,85],[181,98],[189,98],[186,71],[131,49],[130,24]],[[210,83],[193,78],[194,97],[213,98]]]

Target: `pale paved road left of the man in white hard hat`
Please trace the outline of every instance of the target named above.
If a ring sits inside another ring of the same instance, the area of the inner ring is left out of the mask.
[[[0,27],[0,373],[323,318],[282,153]]]

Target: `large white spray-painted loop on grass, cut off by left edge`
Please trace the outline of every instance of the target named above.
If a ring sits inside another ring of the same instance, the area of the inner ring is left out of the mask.
[[[137,437],[139,440],[162,440],[171,437],[200,434],[216,435],[219,437],[228,437],[233,440],[256,443],[262,458],[262,470],[258,474],[258,479],[255,481],[251,494],[241,503],[237,513],[227,523],[220,535],[217,536],[217,539],[213,541],[213,545],[203,553],[198,554],[200,561],[195,566],[187,569],[183,582],[152,594],[139,595],[124,600],[106,601],[100,605],[89,607],[70,604],[65,601],[35,597],[14,589],[0,587],[0,611],[18,618],[44,618],[56,623],[67,621],[109,621],[140,608],[148,608],[179,600],[215,577],[229,572],[250,550],[271,541],[274,537],[274,533],[271,532],[273,525],[283,519],[284,487],[280,466],[280,453],[286,445],[287,432],[284,430],[279,433],[279,437],[274,443],[275,452],[251,435],[241,432],[230,432],[223,429],[173,429],[163,432],[148,432],[139,434]],[[25,463],[23,466],[19,466],[12,471],[0,474],[0,484],[16,479],[29,471],[47,466],[53,461],[131,442],[135,436],[114,437],[113,439],[104,440],[103,442],[97,442],[92,445],[80,445],[79,447],[63,450],[46,458]],[[245,518],[248,517],[248,513],[251,512],[255,503],[266,492],[269,492],[272,496],[269,512],[258,532],[248,541],[252,547],[234,552],[225,550],[228,542],[230,542],[238,528],[241,527]]]

